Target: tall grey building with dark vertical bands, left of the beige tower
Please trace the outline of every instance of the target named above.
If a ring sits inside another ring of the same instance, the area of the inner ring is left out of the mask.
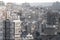
[[[6,19],[3,24],[3,40],[15,40],[15,23]]]

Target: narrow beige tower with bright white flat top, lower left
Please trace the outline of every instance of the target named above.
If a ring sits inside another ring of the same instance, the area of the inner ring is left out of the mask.
[[[21,22],[20,20],[14,20],[15,22],[15,40],[21,40]]]

